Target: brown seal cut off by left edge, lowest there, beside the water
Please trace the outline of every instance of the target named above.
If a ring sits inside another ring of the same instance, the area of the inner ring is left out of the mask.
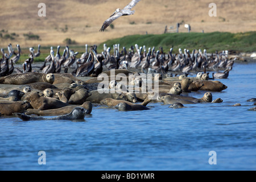
[[[13,115],[13,113],[23,113],[30,107],[27,101],[0,101],[0,113],[2,115]]]

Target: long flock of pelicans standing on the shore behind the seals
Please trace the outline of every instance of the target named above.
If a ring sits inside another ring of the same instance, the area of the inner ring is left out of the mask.
[[[179,48],[175,53],[173,48],[170,48],[168,52],[164,52],[161,46],[156,49],[155,47],[146,48],[146,45],[138,46],[138,44],[131,46],[129,51],[127,51],[126,47],[122,47],[122,50],[120,50],[120,45],[114,44],[113,55],[111,55],[112,48],[107,47],[106,44],[104,44],[104,51],[101,53],[97,53],[96,45],[88,48],[88,44],[85,44],[85,52],[81,52],[81,56],[78,58],[76,56],[79,55],[79,52],[69,49],[68,46],[64,48],[62,56],[60,54],[60,46],[57,46],[56,55],[54,55],[53,47],[51,47],[49,56],[44,58],[45,61],[40,68],[35,66],[34,48],[30,47],[30,55],[20,65],[22,68],[18,68],[16,64],[20,61],[21,49],[19,44],[16,47],[18,53],[13,51],[11,44],[8,45],[8,53],[5,53],[3,48],[1,49],[1,77],[12,73],[27,72],[69,72],[73,76],[97,77],[102,71],[129,69],[141,73],[160,73],[163,76],[195,74],[196,78],[200,78],[203,73],[212,72],[212,78],[210,79],[222,79],[228,78],[236,60],[236,57],[228,59],[228,51],[207,53],[206,49],[204,51],[193,49],[190,52],[186,48],[183,51]],[[42,57],[42,54],[39,57]]]

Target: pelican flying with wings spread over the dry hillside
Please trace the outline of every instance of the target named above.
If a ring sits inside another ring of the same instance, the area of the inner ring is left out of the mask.
[[[139,1],[141,0],[132,0],[127,6],[125,6],[122,10],[119,8],[115,10],[115,12],[102,24],[100,31],[104,31],[106,27],[108,27],[115,19],[120,16],[133,15],[134,10],[131,10]]]

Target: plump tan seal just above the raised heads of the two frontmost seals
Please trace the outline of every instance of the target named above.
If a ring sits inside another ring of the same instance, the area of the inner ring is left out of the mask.
[[[86,98],[90,97],[92,93],[88,92],[86,89],[79,89],[68,100],[68,104],[80,105],[86,101]]]

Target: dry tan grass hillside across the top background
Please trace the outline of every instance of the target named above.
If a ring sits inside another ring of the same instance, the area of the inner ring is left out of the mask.
[[[165,26],[176,27],[183,22],[180,32],[191,25],[193,32],[246,32],[256,30],[255,0],[215,0],[217,16],[210,17],[205,0],[141,0],[135,14],[114,21],[114,28],[99,32],[102,23],[115,9],[123,8],[131,0],[44,0],[46,17],[39,17],[41,1],[2,1],[0,6],[0,46],[19,43],[21,47],[65,45],[70,38],[77,44],[99,44],[108,39],[132,34],[163,34]],[[27,40],[24,34],[38,35],[40,40]],[[7,36],[6,34],[9,34]]]

